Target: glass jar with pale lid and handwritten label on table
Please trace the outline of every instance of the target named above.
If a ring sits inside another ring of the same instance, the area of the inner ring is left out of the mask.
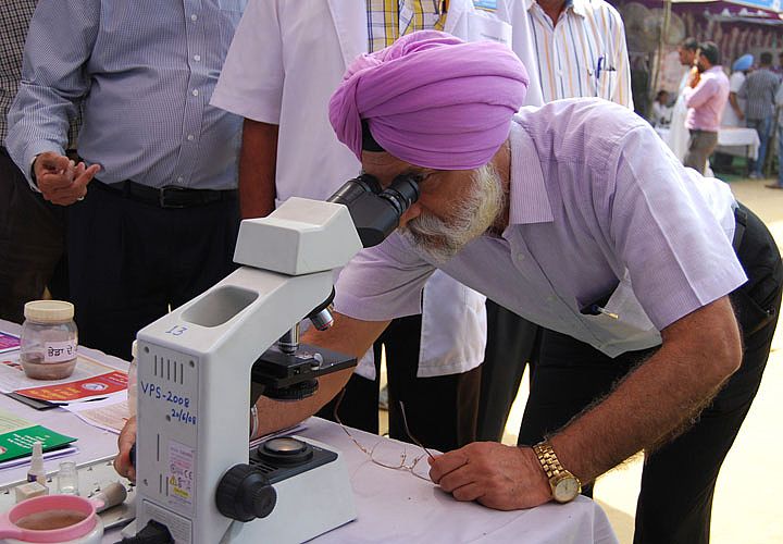
[[[61,380],[76,368],[78,332],[74,307],[64,300],[33,300],[24,309],[20,360],[28,378]]]

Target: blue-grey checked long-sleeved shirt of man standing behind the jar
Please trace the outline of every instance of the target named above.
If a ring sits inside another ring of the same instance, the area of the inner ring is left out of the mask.
[[[29,26],[7,146],[29,172],[63,152],[84,100],[79,154],[103,183],[236,187],[241,118],[209,104],[246,0],[59,0]]]

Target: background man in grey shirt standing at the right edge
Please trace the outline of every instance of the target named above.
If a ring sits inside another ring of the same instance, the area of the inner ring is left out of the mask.
[[[767,158],[767,146],[774,126],[775,95],[780,87],[780,76],[772,73],[772,53],[765,51],[759,55],[759,67],[747,76],[737,96],[745,99],[745,123],[755,128],[759,136],[758,158],[750,161],[750,177],[763,177],[762,169]],[[768,185],[778,188],[778,184]]]

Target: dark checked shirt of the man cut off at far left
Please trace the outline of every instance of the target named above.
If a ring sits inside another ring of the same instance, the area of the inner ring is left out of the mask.
[[[5,116],[22,78],[22,52],[27,28],[38,0],[14,0],[0,10],[0,145],[8,134]],[[77,120],[71,123],[70,141],[74,141]]]

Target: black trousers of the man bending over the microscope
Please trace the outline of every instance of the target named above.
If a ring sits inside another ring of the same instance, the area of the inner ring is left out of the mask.
[[[709,542],[718,472],[758,391],[781,305],[778,247],[763,223],[747,213],[737,257],[749,281],[731,295],[742,330],[742,366],[687,432],[645,458],[636,544]],[[532,445],[556,432],[654,351],[611,359],[569,336],[543,331],[519,444]]]

